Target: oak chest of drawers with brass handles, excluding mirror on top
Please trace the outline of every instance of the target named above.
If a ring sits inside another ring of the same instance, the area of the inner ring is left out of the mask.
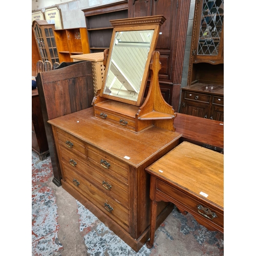
[[[93,108],[48,122],[63,188],[138,251],[150,237],[145,168],[177,146],[181,134],[155,126],[134,133],[95,117]],[[172,209],[173,204],[159,204],[158,226]]]

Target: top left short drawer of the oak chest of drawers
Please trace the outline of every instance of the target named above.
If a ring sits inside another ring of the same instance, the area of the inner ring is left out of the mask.
[[[73,135],[57,129],[59,145],[81,157],[86,156],[86,146]]]

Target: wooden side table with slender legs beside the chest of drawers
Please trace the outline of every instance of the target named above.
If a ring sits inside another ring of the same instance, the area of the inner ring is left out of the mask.
[[[224,155],[184,141],[148,166],[151,175],[151,231],[154,244],[157,202],[172,202],[209,230],[224,232]]]

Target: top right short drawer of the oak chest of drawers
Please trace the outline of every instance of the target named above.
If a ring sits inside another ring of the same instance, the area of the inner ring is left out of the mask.
[[[128,184],[129,166],[125,162],[122,162],[91,145],[87,145],[87,155],[88,161],[97,166],[102,172],[106,172]]]

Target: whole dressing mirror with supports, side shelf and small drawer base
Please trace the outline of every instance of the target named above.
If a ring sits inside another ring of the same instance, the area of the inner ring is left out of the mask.
[[[163,15],[110,20],[113,34],[100,94],[93,101],[94,115],[125,129],[140,132],[150,126],[175,131],[176,114],[161,94],[155,52]],[[143,98],[151,72],[151,84]]]

